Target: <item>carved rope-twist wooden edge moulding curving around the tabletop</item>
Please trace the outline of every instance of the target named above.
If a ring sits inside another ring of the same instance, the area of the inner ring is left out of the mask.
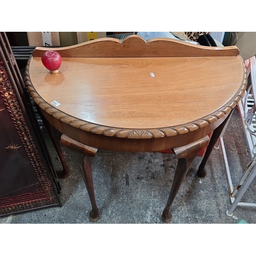
[[[176,135],[181,135],[189,132],[193,132],[195,130],[198,130],[210,123],[213,123],[217,121],[218,119],[222,118],[223,116],[230,113],[230,111],[237,105],[237,103],[242,99],[246,84],[247,84],[247,71],[246,67],[243,63],[243,69],[244,69],[244,76],[241,83],[240,89],[237,91],[237,93],[233,96],[233,98],[227,102],[221,109],[215,111],[211,115],[205,116],[201,119],[198,119],[191,123],[185,123],[178,126],[172,126],[172,127],[162,127],[159,129],[121,129],[117,127],[109,127],[109,126],[102,126],[95,123],[90,123],[87,121],[83,121],[80,119],[77,119],[75,117],[72,117],[70,115],[67,115],[66,113],[63,113],[59,111],[58,109],[51,106],[49,103],[47,103],[44,99],[40,97],[40,95],[36,92],[36,90],[33,87],[33,84],[29,77],[29,65],[30,65],[31,57],[28,61],[28,64],[26,66],[25,71],[25,80],[26,80],[26,86],[28,88],[28,91],[31,95],[31,97],[34,99],[36,104],[39,105],[39,107],[44,110],[46,113],[52,115],[54,118],[65,122],[69,125],[72,125],[78,129],[95,133],[95,134],[101,134],[104,136],[110,136],[110,137],[118,137],[118,138],[129,138],[129,139],[151,139],[151,138],[163,138],[163,137],[171,137]]]

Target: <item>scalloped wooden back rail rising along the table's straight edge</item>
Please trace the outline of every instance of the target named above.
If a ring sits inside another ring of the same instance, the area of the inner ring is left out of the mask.
[[[98,38],[78,45],[51,48],[62,57],[205,57],[238,56],[236,46],[208,47],[171,39],[154,38],[145,41],[137,35],[127,36],[124,40]],[[33,57],[41,57],[49,48],[36,47]]]

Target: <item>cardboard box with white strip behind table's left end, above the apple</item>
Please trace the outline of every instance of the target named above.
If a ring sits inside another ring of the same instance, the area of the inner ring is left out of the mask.
[[[59,46],[59,32],[27,32],[29,46]]]

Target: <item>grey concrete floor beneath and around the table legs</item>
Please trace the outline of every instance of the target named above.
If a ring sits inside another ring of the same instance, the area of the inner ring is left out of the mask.
[[[45,136],[56,171],[61,164]],[[233,184],[236,185],[249,162],[240,117],[235,109],[224,135]],[[61,179],[62,207],[49,207],[0,218],[0,223],[92,223],[90,200],[80,170],[71,152],[62,147],[71,176]],[[172,223],[256,223],[256,208],[238,206],[235,220],[226,216],[230,206],[225,164],[221,150],[214,150],[206,164],[207,176],[196,176],[202,157],[191,165],[172,206]],[[163,223],[162,210],[173,181],[177,159],[173,154],[122,153],[99,150],[92,160],[97,223]],[[256,203],[255,181],[243,201]],[[253,201],[254,200],[254,201]]]

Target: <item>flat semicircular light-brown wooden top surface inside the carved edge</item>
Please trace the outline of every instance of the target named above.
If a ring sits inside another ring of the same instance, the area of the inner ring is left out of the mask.
[[[59,111],[127,129],[177,126],[210,115],[244,79],[239,56],[62,58],[55,75],[34,57],[29,72],[36,92],[52,106],[59,102]]]

